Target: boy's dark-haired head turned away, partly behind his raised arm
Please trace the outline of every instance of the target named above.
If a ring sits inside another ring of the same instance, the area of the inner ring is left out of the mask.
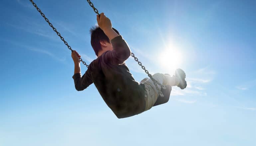
[[[112,28],[118,35],[119,32]],[[101,51],[113,50],[112,44],[110,43],[109,38],[105,33],[100,29],[99,26],[92,27],[90,29],[91,33],[91,46],[95,52],[95,55],[98,57],[98,53]]]

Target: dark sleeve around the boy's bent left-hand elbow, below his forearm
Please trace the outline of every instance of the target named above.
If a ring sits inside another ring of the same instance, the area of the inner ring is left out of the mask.
[[[93,83],[89,70],[87,70],[83,76],[81,76],[80,73],[76,73],[72,78],[74,79],[75,89],[77,91],[82,91]]]

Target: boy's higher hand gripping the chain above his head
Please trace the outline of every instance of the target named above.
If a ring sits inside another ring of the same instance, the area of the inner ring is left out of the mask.
[[[103,32],[112,29],[111,21],[104,15],[104,13],[100,13],[100,16],[97,15],[97,22]]]

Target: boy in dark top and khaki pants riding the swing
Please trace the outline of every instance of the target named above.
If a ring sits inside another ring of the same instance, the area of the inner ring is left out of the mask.
[[[145,78],[138,83],[133,78],[125,60],[131,55],[126,41],[112,28],[111,21],[101,13],[97,15],[98,27],[92,28],[91,45],[97,59],[93,60],[85,74],[81,75],[81,57],[76,51],[71,56],[74,61],[75,89],[82,91],[94,83],[108,107],[118,118],[139,114],[153,107],[159,91],[151,79]],[[185,89],[185,72],[176,70],[174,76],[156,73],[152,76],[162,85],[178,86]],[[158,85],[161,90],[161,86]]]

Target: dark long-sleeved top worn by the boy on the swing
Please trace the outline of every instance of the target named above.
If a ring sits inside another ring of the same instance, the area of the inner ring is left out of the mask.
[[[118,118],[139,114],[145,109],[144,84],[135,81],[124,61],[130,48],[122,38],[111,40],[113,51],[106,51],[88,66],[83,76],[73,75],[75,88],[84,90],[94,83],[105,103]]]

